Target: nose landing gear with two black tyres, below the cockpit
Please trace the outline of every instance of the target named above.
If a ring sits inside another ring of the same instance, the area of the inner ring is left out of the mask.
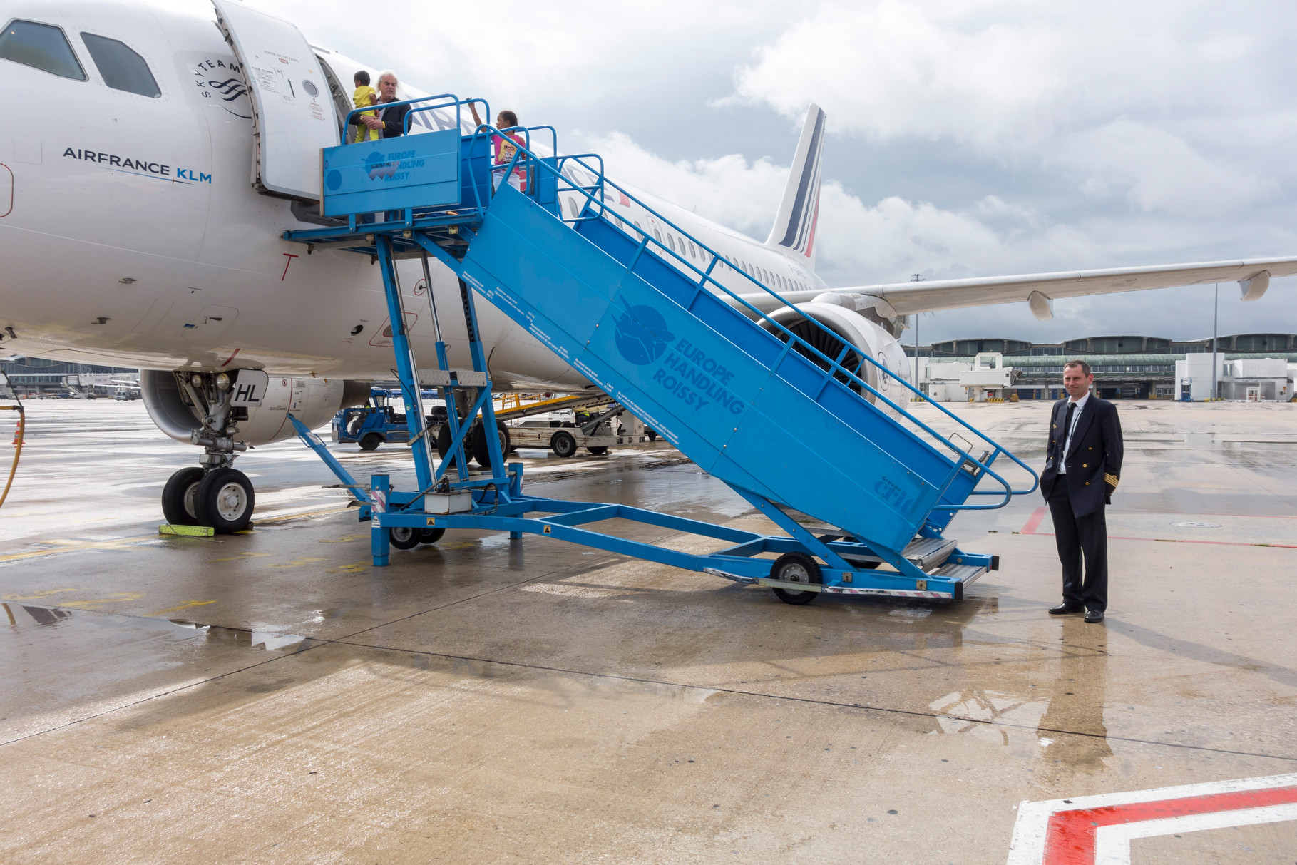
[[[245,409],[231,409],[231,379],[227,373],[176,372],[182,401],[202,427],[189,441],[204,447],[201,466],[182,468],[162,488],[162,514],[173,525],[206,525],[217,534],[248,528],[257,502],[252,481],[233,468],[235,456],[248,449],[239,434]],[[241,414],[241,416],[240,416]]]

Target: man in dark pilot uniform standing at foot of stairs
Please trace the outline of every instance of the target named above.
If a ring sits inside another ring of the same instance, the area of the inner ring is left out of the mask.
[[[1104,506],[1122,473],[1122,424],[1117,406],[1091,396],[1095,376],[1084,361],[1062,370],[1067,398],[1049,416],[1049,447],[1040,492],[1049,502],[1054,539],[1062,560],[1062,604],[1051,615],[1086,611],[1086,621],[1104,620],[1108,608],[1108,524]],[[1084,578],[1082,578],[1084,556]]]

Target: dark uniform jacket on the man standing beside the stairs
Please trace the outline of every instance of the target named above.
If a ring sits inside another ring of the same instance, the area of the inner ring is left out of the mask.
[[[1062,479],[1067,484],[1067,498],[1077,516],[1086,516],[1101,508],[1117,489],[1122,476],[1122,424],[1117,419],[1117,406],[1091,394],[1077,418],[1071,434],[1071,450],[1064,454],[1067,431],[1069,399],[1060,399],[1049,414],[1049,447],[1045,450],[1045,469],[1040,472],[1040,492],[1045,501],[1058,477],[1058,463],[1067,471]]]

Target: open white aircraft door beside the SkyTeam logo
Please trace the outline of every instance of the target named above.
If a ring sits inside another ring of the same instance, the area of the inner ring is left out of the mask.
[[[213,0],[252,96],[253,178],[259,192],[318,201],[320,148],[337,144],[328,82],[291,22],[237,0]]]

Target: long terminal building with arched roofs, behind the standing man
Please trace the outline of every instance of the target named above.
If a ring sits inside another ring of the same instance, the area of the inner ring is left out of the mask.
[[[914,346],[905,346],[912,359]],[[1105,399],[1239,401],[1293,398],[1297,335],[1240,333],[1217,338],[1215,389],[1211,338],[1176,341],[1153,336],[1092,336],[1039,344],[965,338],[918,346],[920,384],[940,402],[965,399],[1057,399],[1062,364],[1086,361]]]

